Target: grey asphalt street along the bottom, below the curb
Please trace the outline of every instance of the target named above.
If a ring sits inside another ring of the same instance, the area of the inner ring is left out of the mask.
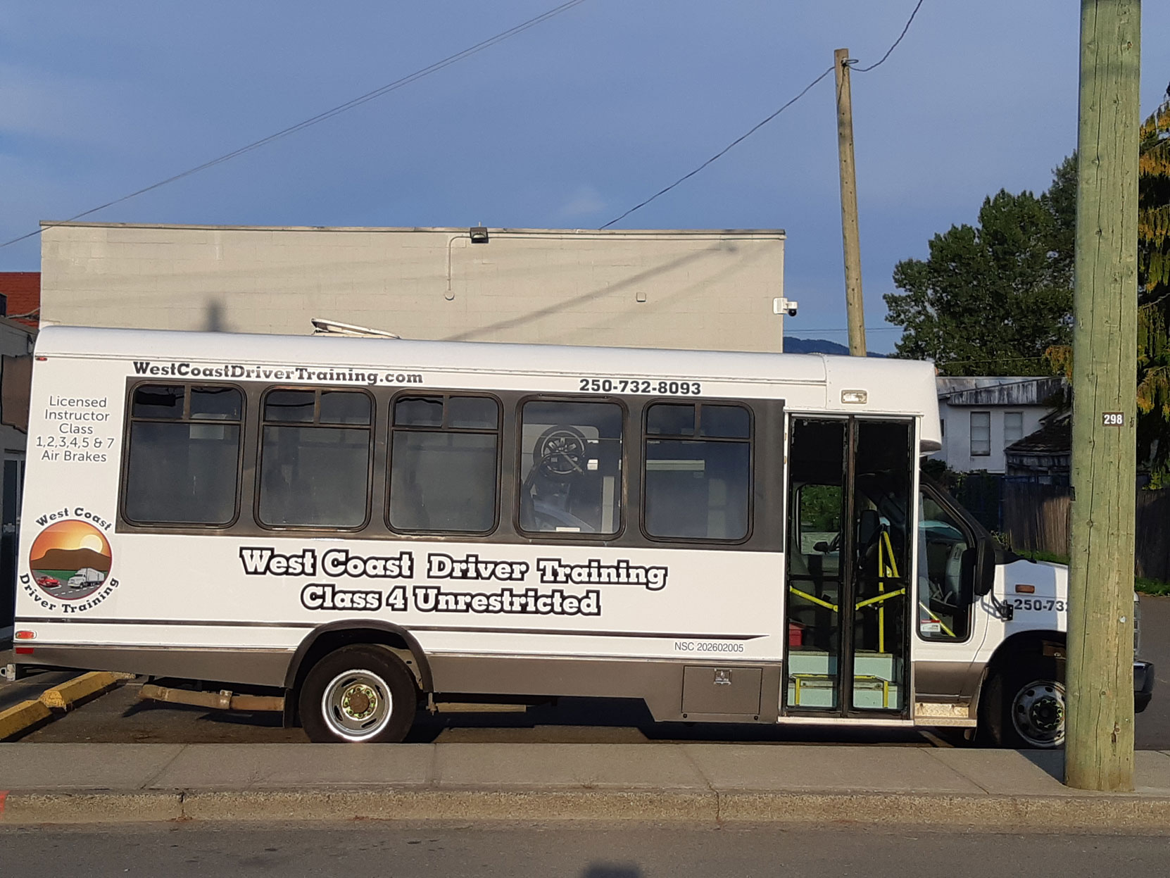
[[[1165,837],[986,835],[848,826],[338,824],[0,830],[0,874],[799,876],[1162,878]]]

